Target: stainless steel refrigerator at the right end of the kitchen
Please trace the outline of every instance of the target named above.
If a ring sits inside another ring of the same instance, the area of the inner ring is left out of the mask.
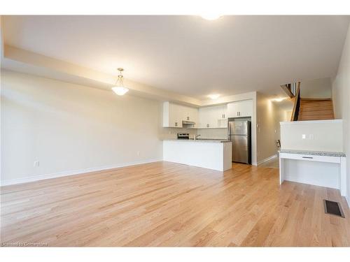
[[[251,122],[228,122],[228,139],[232,142],[232,162],[251,163]]]

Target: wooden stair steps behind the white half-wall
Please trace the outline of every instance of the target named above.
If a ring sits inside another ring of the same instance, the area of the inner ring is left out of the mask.
[[[334,119],[331,99],[302,99],[297,121]]]

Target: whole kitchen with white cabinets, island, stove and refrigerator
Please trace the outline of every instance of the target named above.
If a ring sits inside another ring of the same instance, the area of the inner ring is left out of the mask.
[[[199,108],[167,101],[162,109],[163,128],[179,130],[163,139],[164,161],[219,171],[252,164],[253,99]]]

